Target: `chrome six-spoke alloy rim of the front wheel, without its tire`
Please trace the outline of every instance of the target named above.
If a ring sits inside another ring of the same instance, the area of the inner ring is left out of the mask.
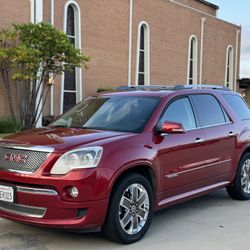
[[[134,235],[144,227],[149,214],[149,196],[140,184],[130,185],[119,203],[119,221],[125,233]]]

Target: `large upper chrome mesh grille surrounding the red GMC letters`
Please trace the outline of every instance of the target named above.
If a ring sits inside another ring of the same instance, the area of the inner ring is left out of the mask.
[[[5,160],[6,154],[25,155],[26,161],[16,162]],[[31,150],[15,149],[15,148],[0,148],[0,171],[11,171],[20,173],[34,173],[41,164],[47,159],[48,152],[37,152]]]

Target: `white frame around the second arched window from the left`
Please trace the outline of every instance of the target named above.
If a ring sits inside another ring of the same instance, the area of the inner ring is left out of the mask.
[[[144,26],[144,85],[150,85],[150,28],[147,22],[142,21],[138,25],[137,31],[137,59],[136,59],[136,76],[135,84],[138,85],[139,62],[140,62],[140,44],[141,44],[141,27]]]

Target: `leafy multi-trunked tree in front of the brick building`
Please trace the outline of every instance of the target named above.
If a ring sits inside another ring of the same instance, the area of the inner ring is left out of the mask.
[[[24,129],[34,126],[41,115],[38,107],[43,110],[54,79],[75,67],[86,68],[88,61],[65,33],[50,24],[0,30],[0,76],[11,117]]]

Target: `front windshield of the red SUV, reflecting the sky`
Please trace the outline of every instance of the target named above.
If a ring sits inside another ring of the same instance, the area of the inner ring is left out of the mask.
[[[91,97],[50,126],[139,133],[158,103],[155,97]]]

